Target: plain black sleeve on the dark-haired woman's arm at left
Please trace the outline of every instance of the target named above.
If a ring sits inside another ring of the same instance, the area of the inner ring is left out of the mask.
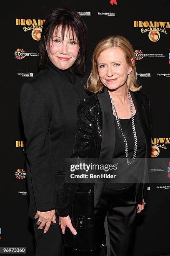
[[[47,99],[29,83],[20,93],[20,110],[27,139],[26,155],[31,170],[37,210],[55,209],[55,179],[52,172],[50,116]]]

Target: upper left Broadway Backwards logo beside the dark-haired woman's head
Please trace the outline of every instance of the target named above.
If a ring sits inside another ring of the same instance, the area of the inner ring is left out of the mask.
[[[39,41],[41,39],[42,26],[45,20],[35,19],[16,19],[16,26],[23,26],[23,31],[32,31],[31,36],[34,40]]]

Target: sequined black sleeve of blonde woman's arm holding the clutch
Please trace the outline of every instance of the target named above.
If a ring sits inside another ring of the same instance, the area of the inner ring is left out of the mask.
[[[94,116],[83,101],[78,106],[77,133],[75,136],[74,149],[71,158],[88,158],[92,142],[92,133],[94,127]],[[65,183],[57,197],[57,213],[61,217],[66,217],[72,206],[72,202],[77,192],[79,184]]]

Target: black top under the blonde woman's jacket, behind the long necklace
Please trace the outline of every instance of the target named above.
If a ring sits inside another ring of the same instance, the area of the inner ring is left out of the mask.
[[[122,137],[122,133],[120,132],[120,129],[118,128],[115,115],[114,115],[114,120],[115,120],[115,151],[113,154],[113,158],[126,159],[124,139]],[[122,132],[124,133],[126,140],[128,142],[128,158],[130,161],[132,161],[134,146],[135,146],[135,140],[134,140],[133,129],[132,129],[132,119],[120,118],[119,120],[122,127]],[[143,131],[142,131],[137,113],[135,113],[134,115],[134,123],[135,123],[135,130],[136,130],[136,135],[138,140],[138,148],[136,153],[136,161],[138,161],[138,159],[145,157],[145,138],[143,135]],[[133,163],[133,167],[138,168],[138,164]],[[125,171],[128,172],[129,168],[130,167],[125,162]],[[123,187],[133,186],[134,184],[135,183],[114,183],[114,184],[106,183],[105,188],[107,189],[123,188]]]

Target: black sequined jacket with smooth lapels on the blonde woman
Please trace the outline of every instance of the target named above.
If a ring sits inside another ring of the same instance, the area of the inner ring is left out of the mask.
[[[145,158],[150,155],[152,121],[148,95],[130,92],[145,137]],[[115,123],[107,88],[82,100],[78,106],[77,133],[71,158],[112,158],[115,149]],[[68,215],[77,187],[94,189],[94,206],[97,206],[105,184],[64,183],[57,197],[57,212]],[[146,185],[136,184],[137,200],[146,196]]]

